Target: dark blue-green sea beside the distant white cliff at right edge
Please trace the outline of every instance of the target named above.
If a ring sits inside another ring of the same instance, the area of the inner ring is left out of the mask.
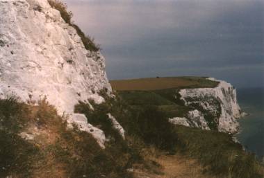
[[[238,103],[248,115],[240,118],[236,135],[245,150],[264,159],[264,88],[237,89]]]

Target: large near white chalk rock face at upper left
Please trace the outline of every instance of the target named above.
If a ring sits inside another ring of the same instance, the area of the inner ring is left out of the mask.
[[[15,94],[32,102],[47,96],[59,114],[71,117],[79,100],[104,102],[97,94],[104,88],[111,91],[104,57],[86,50],[47,0],[0,1],[1,98]]]

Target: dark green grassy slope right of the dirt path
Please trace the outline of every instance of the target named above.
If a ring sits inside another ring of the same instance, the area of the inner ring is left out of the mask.
[[[211,175],[230,178],[261,178],[263,166],[254,154],[242,150],[231,135],[190,127],[175,128],[179,138],[178,150],[198,159]]]

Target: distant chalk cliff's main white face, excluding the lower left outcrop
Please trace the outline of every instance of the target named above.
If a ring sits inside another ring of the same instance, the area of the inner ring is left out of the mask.
[[[215,80],[208,78],[208,80]],[[185,105],[197,105],[210,112],[211,114],[220,114],[217,118],[217,127],[220,132],[235,133],[238,131],[237,118],[240,117],[240,107],[236,98],[236,89],[231,84],[220,82],[215,88],[181,89],[179,94],[185,101]],[[217,107],[215,101],[220,103]]]

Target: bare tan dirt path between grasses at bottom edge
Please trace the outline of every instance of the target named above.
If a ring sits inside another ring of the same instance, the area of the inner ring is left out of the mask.
[[[160,156],[155,159],[162,166],[161,175],[154,173],[135,170],[134,175],[136,178],[215,178],[212,176],[204,175],[201,166],[197,161],[187,159],[181,155],[174,156]]]

